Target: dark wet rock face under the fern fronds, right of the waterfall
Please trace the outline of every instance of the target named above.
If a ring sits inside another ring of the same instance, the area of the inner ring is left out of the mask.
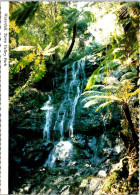
[[[88,95],[88,97],[90,96]],[[120,128],[121,115],[115,105],[112,105],[110,110],[104,109],[103,111],[96,112],[99,105],[85,108],[84,105],[87,103],[87,100],[84,101],[85,98],[86,95],[81,95],[76,106],[75,133],[98,137],[102,135],[104,131],[110,130],[112,124],[113,126],[117,125],[116,128]]]

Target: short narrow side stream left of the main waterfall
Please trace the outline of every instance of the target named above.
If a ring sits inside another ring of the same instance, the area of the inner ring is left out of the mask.
[[[52,122],[52,114],[53,114],[53,107],[50,106],[51,104],[51,96],[48,96],[49,100],[45,103],[45,105],[41,108],[46,112],[46,124],[43,130],[43,140],[50,142],[50,126]]]

